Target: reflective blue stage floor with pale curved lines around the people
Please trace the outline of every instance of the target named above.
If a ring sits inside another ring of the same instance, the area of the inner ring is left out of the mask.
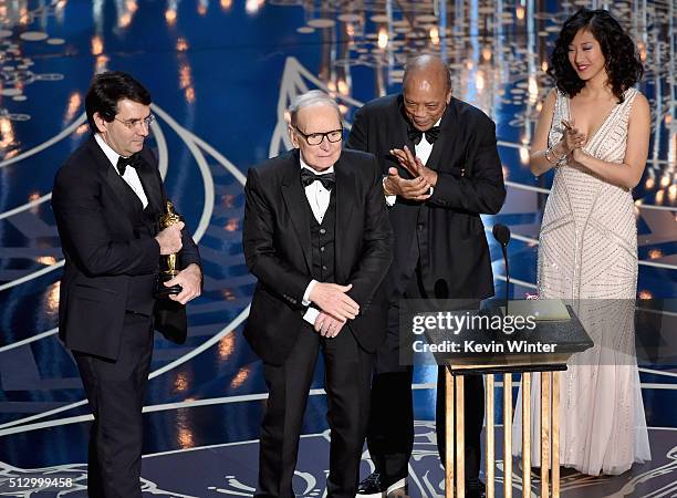
[[[637,291],[642,299],[675,298],[677,0],[0,1],[0,481],[56,473],[73,478],[60,496],[85,496],[90,417],[73,359],[55,335],[63,260],[49,199],[55,170],[87,134],[83,100],[94,72],[127,71],[150,90],[157,117],[150,143],[205,260],[205,292],[188,309],[187,343],[156,340],[145,496],[249,496],[265,386],[241,335],[254,286],[240,240],[242,186],[248,167],[290,146],[284,107],[322,89],[336,96],[350,126],[362,103],[399,90],[408,54],[441,53],[455,95],[497,123],[508,198],[485,224],[513,232],[509,290],[521,298],[535,287],[552,181],[530,174],[528,144],[551,85],[546,54],[580,4],[610,8],[645,59],[640,90],[653,127],[647,169],[634,191]],[[500,247],[488,238],[503,295]],[[646,365],[640,376],[653,460],[617,478],[569,476],[564,497],[677,496],[677,369]],[[325,494],[322,378],[320,364],[296,474],[296,492],[306,497]],[[435,378],[431,367],[415,373],[413,497],[442,492],[431,425]],[[369,466],[365,454],[363,475]],[[515,479],[515,496],[519,486]],[[0,496],[24,491],[0,485]]]

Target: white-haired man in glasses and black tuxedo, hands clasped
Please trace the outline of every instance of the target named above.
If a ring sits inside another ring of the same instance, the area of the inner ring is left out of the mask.
[[[343,151],[336,103],[312,91],[290,107],[292,152],[251,168],[244,258],[258,283],[244,335],[269,391],[254,496],[292,498],[299,437],[321,350],[331,428],[327,496],[353,498],[366,432],[373,352],[392,260],[381,172]]]

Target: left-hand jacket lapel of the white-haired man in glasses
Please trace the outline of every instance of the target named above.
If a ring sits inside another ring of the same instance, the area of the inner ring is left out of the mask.
[[[308,220],[308,200],[305,198],[305,190],[303,190],[303,186],[301,185],[300,168],[301,163],[299,162],[299,151],[296,149],[290,155],[287,172],[282,178],[282,198],[284,199],[284,205],[292,220],[294,231],[296,232],[303,252],[303,259],[305,260],[310,273],[312,271],[310,253],[311,232],[310,222]]]

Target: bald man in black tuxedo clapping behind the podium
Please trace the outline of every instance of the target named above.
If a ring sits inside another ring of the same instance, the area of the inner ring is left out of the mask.
[[[410,365],[399,360],[400,299],[462,299],[493,294],[491,260],[480,214],[506,197],[493,122],[451,96],[449,70],[431,55],[406,66],[403,93],[377,98],[355,114],[346,147],[374,154],[395,234],[386,341],[375,359],[367,445],[375,473],[357,496],[382,497],[406,487],[414,443]],[[439,369],[437,440],[444,463],[445,382]],[[481,376],[466,381],[466,476],[470,498],[479,481],[483,419]]]

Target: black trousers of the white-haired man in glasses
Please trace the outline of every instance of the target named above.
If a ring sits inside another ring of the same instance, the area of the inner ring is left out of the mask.
[[[355,497],[369,409],[373,354],[360,346],[347,326],[336,338],[324,339],[310,325],[303,326],[283,365],[263,365],[269,397],[261,424],[256,497],[295,496],[292,478],[320,350],[324,356],[331,429],[327,497]]]

